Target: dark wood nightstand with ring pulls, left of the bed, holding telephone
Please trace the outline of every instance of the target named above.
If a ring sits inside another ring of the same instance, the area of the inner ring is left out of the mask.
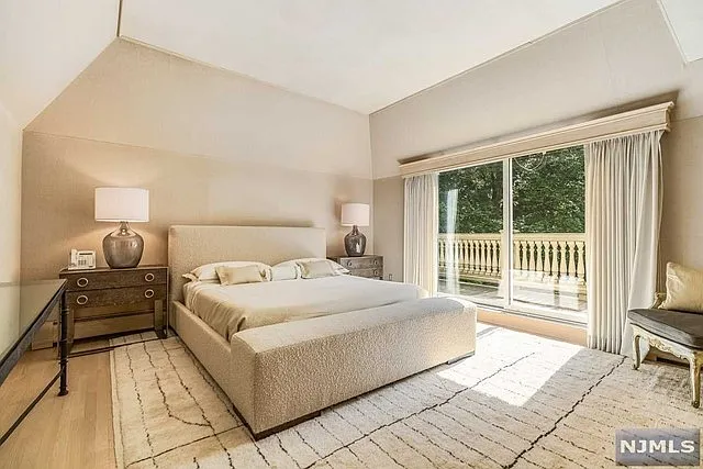
[[[68,342],[155,330],[166,337],[168,267],[63,269],[68,306]]]

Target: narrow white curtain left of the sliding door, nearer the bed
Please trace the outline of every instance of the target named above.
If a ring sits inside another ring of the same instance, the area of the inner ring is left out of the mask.
[[[437,291],[437,174],[405,179],[404,267],[406,282]]]

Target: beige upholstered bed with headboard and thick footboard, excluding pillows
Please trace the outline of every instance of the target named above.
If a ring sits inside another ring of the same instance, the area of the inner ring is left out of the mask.
[[[341,276],[225,288],[182,278],[209,263],[325,254],[321,228],[169,228],[171,325],[255,438],[473,353],[475,306],[423,298],[414,286]]]

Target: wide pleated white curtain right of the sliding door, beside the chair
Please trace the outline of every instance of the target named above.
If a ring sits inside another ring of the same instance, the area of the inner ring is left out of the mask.
[[[592,348],[629,355],[627,310],[654,300],[663,131],[585,146],[585,232]]]

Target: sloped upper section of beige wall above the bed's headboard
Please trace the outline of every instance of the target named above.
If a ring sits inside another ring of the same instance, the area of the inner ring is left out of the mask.
[[[29,130],[371,177],[367,115],[124,40]]]

